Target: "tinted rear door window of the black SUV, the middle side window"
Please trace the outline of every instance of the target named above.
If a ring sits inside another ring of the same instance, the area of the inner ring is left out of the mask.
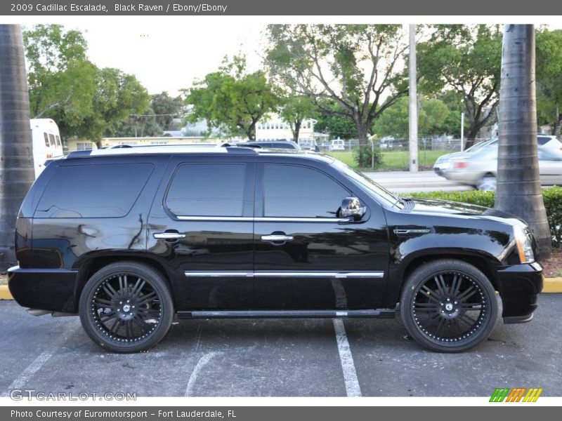
[[[166,194],[166,207],[178,216],[242,216],[244,163],[184,163]]]

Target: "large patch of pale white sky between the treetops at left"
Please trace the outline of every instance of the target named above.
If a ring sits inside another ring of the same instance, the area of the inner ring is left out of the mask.
[[[246,53],[249,69],[261,65],[261,32],[258,22],[233,20],[219,25],[191,21],[188,25],[65,25],[79,29],[88,41],[90,60],[98,67],[117,67],[131,73],[149,93],[178,94],[194,79],[214,72],[225,55]]]

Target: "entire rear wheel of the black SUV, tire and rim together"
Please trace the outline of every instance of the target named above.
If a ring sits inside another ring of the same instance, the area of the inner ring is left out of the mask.
[[[174,303],[156,269],[117,262],[91,276],[80,295],[79,314],[82,327],[97,345],[132,353],[164,338],[174,317]]]

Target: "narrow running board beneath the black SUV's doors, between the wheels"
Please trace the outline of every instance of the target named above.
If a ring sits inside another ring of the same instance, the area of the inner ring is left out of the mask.
[[[395,309],[370,310],[217,310],[178,312],[179,319],[320,319],[377,317],[393,319]]]

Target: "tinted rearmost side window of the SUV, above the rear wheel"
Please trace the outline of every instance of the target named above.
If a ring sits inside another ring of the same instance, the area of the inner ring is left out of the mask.
[[[34,218],[119,218],[143,190],[150,163],[60,166]]]

